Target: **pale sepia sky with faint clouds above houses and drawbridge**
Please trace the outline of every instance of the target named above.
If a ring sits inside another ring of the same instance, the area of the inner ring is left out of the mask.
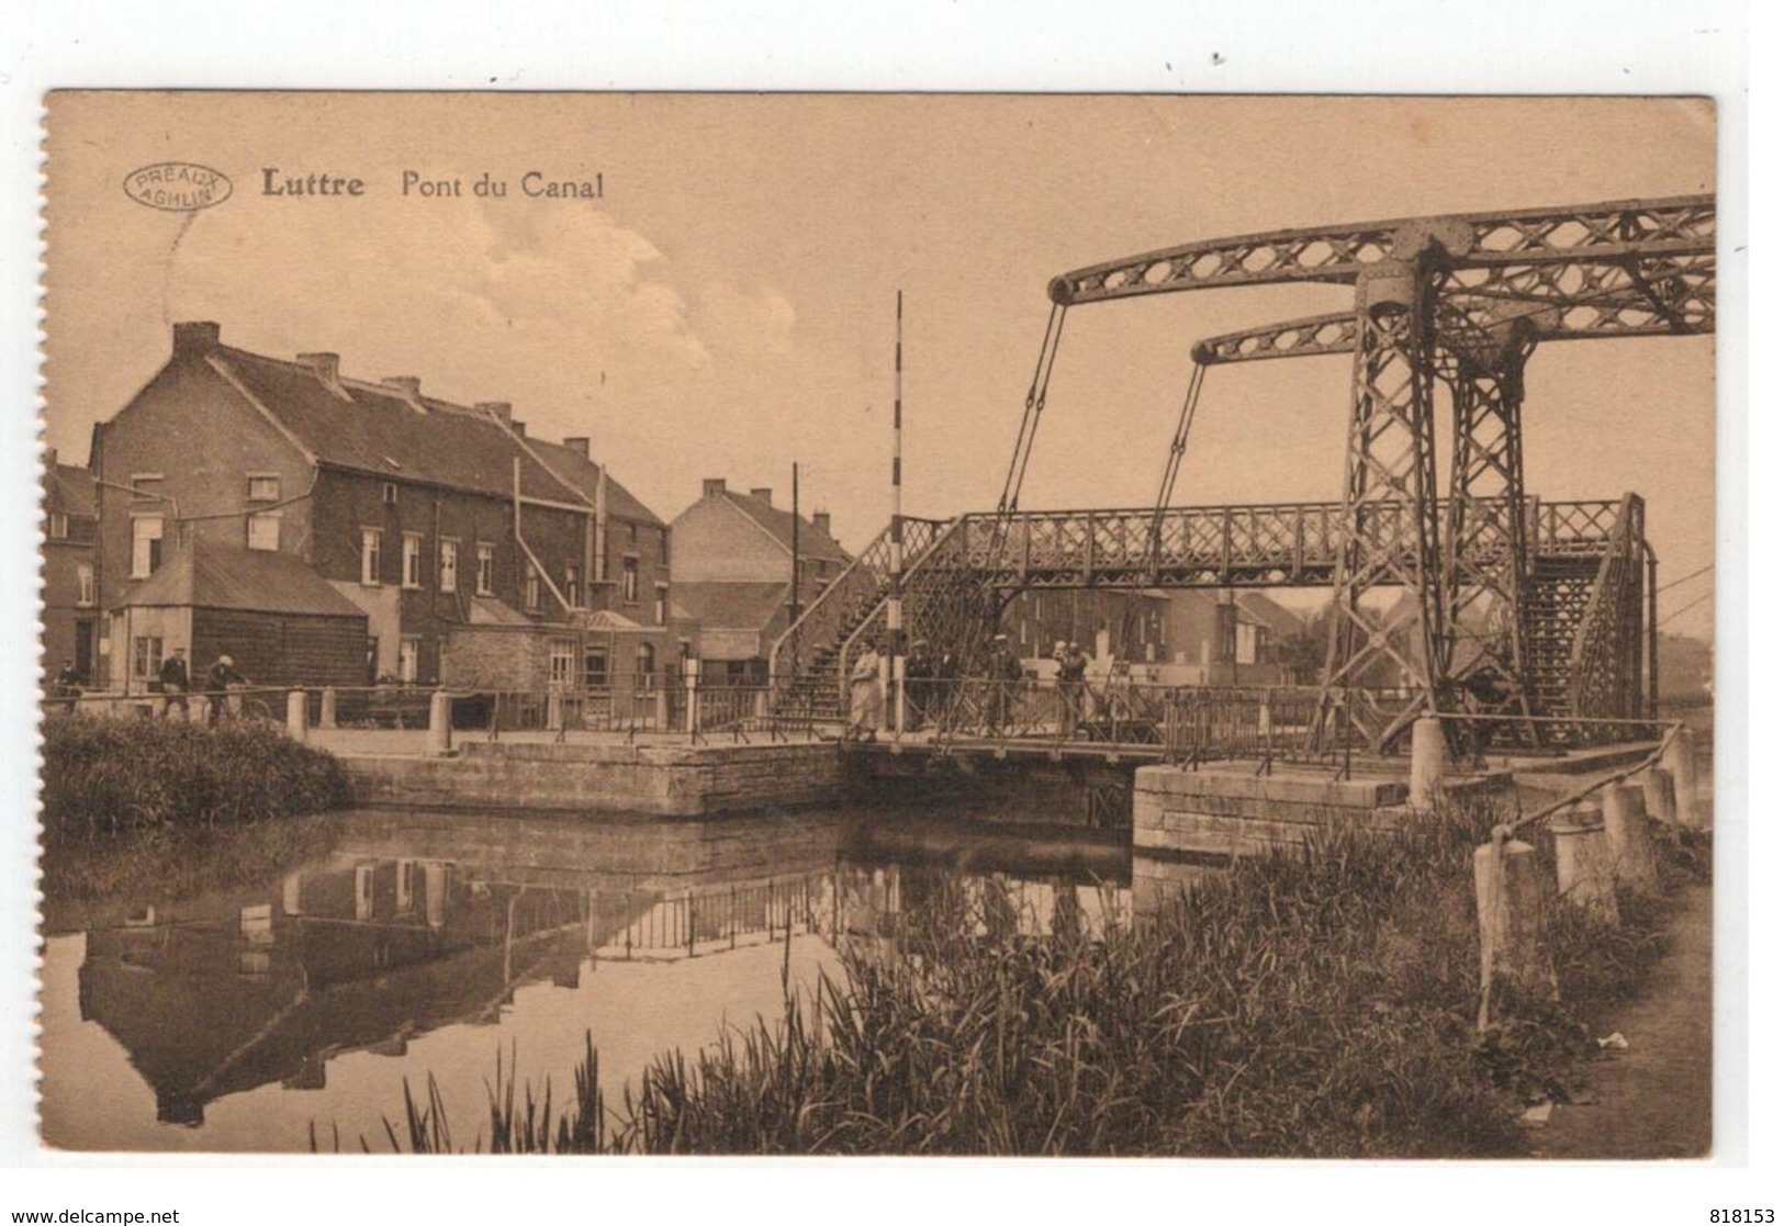
[[[152,162],[221,170],[143,207]],[[357,177],[360,196],[266,195]],[[462,195],[401,191],[403,171]],[[521,178],[601,198],[530,198]],[[482,175],[508,184],[476,196]],[[54,95],[46,441],[84,460],[177,319],[350,377],[508,400],[664,518],[705,476],[772,487],[858,548],[890,512],[904,293],[904,505],[997,501],[1047,280],[1193,239],[1709,191],[1714,112],[1681,98]],[[1024,507],[1138,507],[1195,339],[1320,311],[1334,286],[1074,309]],[[1709,637],[1714,343],[1595,341],[1527,371],[1527,487],[1648,503],[1666,630]],[[1349,359],[1210,371],[1176,501],[1336,498]],[[1672,614],[1679,614],[1673,617]]]

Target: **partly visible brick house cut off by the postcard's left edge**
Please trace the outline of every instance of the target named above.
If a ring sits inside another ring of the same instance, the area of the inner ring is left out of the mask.
[[[98,503],[93,473],[43,460],[43,680],[71,664],[91,685],[98,675]]]

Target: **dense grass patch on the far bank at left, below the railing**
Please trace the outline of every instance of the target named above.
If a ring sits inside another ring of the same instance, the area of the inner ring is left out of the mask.
[[[275,725],[207,728],[62,712],[43,721],[48,844],[161,826],[234,826],[348,801],[339,762]]]

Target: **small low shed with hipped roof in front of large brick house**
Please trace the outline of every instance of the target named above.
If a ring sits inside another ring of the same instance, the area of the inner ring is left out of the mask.
[[[187,651],[193,685],[219,657],[253,685],[362,685],[366,614],[291,553],[198,537],[116,610],[130,689],[150,689],[161,660]]]

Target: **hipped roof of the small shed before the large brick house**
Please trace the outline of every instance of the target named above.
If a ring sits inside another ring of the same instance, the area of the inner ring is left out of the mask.
[[[193,607],[360,617],[364,610],[291,553],[246,550],[200,537],[118,601],[136,609]]]

